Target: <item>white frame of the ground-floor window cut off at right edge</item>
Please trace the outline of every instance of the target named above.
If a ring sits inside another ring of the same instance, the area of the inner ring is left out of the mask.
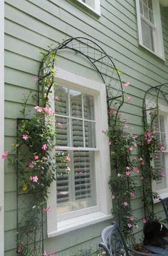
[[[163,113],[163,115],[166,116],[166,118],[164,119],[164,122],[165,122],[165,127],[168,127],[168,107],[159,104],[159,113],[161,114]],[[165,130],[165,133],[166,133],[166,141],[168,142],[167,130]],[[163,152],[166,152],[168,154],[168,150],[165,150],[165,151],[163,150]],[[166,162],[165,166],[168,166],[168,156],[167,156],[167,159],[165,159],[165,162]],[[167,188],[164,188],[162,190],[157,190],[156,189],[157,181],[156,180],[152,181],[152,190],[156,191],[161,198],[168,197],[168,168],[165,171],[166,171],[166,179],[167,179]],[[154,200],[154,203],[158,203],[158,202],[159,202],[159,199]]]

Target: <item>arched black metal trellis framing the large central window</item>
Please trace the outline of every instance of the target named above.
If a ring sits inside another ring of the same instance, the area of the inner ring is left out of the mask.
[[[56,61],[56,55],[58,51],[61,50],[72,50],[75,53],[79,53],[79,56],[84,56],[85,58],[92,63],[93,67],[105,83],[107,88],[107,108],[114,109],[116,116],[117,112],[120,110],[120,107],[124,103],[124,96],[122,91],[122,81],[120,78],[120,71],[117,70],[115,63],[112,58],[110,58],[107,53],[98,46],[98,43],[91,41],[90,39],[86,39],[83,37],[76,37],[72,39],[65,40],[63,43],[59,44],[56,48],[51,48],[48,50],[46,54],[43,56],[43,61],[41,61],[41,65],[38,71],[38,106],[44,107],[46,106],[46,102],[48,101],[48,93],[51,91],[51,87],[54,83],[54,65]],[[46,81],[48,83],[48,87],[45,88]],[[21,152],[18,152],[21,155]],[[23,170],[23,166],[20,165],[18,161],[17,165],[17,173],[21,173]],[[18,176],[19,180],[19,176]],[[19,181],[18,181],[19,183]],[[25,210],[23,207],[28,209],[29,201],[33,200],[36,195],[28,195],[27,193],[21,193],[18,186],[18,210],[17,210],[17,225],[18,230],[21,230],[22,226],[25,225]],[[28,199],[29,198],[29,199]],[[30,199],[31,198],[31,199]],[[24,204],[24,205],[23,205]],[[28,210],[27,210],[28,211]],[[33,218],[33,216],[32,216]],[[40,227],[41,226],[41,227]],[[36,235],[37,234],[37,235]],[[31,255],[34,255],[33,248],[36,245],[36,253],[43,253],[43,217],[39,216],[38,218],[38,230],[36,232],[32,231],[30,235],[28,232],[24,232],[23,228],[18,235],[18,240],[21,240],[23,243],[26,243],[26,248],[28,251],[31,251]],[[34,246],[32,245],[34,244]],[[24,245],[19,246],[19,250]],[[32,250],[31,250],[32,247]],[[18,252],[19,253],[19,252]]]

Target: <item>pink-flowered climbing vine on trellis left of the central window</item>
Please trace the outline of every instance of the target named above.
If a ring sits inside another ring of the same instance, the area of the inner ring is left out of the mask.
[[[50,105],[50,95],[55,89],[53,61],[56,56],[52,49],[47,55],[42,54],[43,73],[34,77],[38,86],[41,83],[38,97],[33,96],[38,98],[39,105],[31,108],[28,104],[32,93],[24,96],[21,117],[17,120],[16,143],[10,152],[2,154],[2,158],[8,158],[17,170],[16,253],[21,256],[50,256],[43,252],[43,215],[52,210],[46,204],[59,166],[62,166],[61,172],[68,173],[70,161],[69,155],[56,150],[56,118]],[[54,100],[58,101],[58,97]]]

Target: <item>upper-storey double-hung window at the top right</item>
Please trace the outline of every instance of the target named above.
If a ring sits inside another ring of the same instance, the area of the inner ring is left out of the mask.
[[[139,43],[164,59],[159,0],[136,0]]]

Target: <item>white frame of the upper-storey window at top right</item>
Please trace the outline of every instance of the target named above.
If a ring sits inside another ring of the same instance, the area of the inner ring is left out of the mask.
[[[164,43],[163,43],[163,36],[162,36],[162,23],[161,23],[161,16],[160,16],[160,8],[159,8],[159,0],[152,0],[153,12],[154,12],[154,51],[147,48],[143,45],[142,42],[142,26],[141,26],[141,14],[140,14],[140,0],[136,0],[136,8],[137,8],[137,29],[138,29],[138,37],[139,37],[139,44],[143,48],[147,49],[157,55],[159,58],[164,58]]]

